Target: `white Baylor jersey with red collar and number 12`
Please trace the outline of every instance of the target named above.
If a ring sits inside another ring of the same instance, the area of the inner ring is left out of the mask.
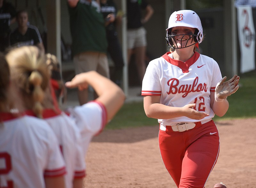
[[[152,60],[146,70],[142,82],[143,96],[161,96],[160,103],[166,106],[183,107],[196,103],[196,110],[214,117],[210,107],[210,92],[215,91],[221,80],[220,68],[217,62],[197,52],[185,63],[172,59],[172,53],[167,52],[162,57]],[[172,119],[158,119],[160,129],[166,125],[197,122],[182,116]]]

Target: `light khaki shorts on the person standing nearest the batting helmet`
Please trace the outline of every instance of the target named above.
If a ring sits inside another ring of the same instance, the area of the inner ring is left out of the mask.
[[[144,27],[127,30],[127,48],[147,46],[147,31]]]

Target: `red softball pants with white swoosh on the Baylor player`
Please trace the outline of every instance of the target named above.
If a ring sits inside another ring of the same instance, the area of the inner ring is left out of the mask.
[[[219,133],[211,120],[194,129],[174,132],[159,130],[160,153],[179,188],[204,188],[219,156]]]

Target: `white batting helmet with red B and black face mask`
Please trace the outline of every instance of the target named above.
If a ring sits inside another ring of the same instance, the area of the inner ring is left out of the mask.
[[[171,34],[173,27],[195,28],[196,30],[194,34],[183,34],[183,36],[181,35],[181,39],[183,39],[185,35],[189,35],[188,41],[190,41],[190,39],[193,38],[195,43],[191,44],[187,41],[185,46],[182,47],[181,45],[181,47],[177,47],[177,42],[174,39],[174,37],[176,37],[177,35]],[[167,34],[165,39],[167,40],[167,45],[171,48],[171,51],[174,51],[175,49],[186,48],[196,43],[201,43],[203,39],[203,27],[201,24],[201,20],[199,16],[196,14],[196,12],[191,10],[181,10],[173,12],[170,16],[168,28],[166,29],[166,31]],[[173,41],[175,44],[173,43]]]

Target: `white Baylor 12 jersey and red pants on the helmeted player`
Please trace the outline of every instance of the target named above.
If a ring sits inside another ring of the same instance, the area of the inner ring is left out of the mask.
[[[167,52],[152,60],[142,82],[142,95],[161,96],[160,104],[183,107],[196,103],[195,110],[210,114],[193,129],[173,131],[178,123],[199,122],[182,116],[158,119],[159,149],[177,187],[204,187],[219,156],[219,134],[212,121],[210,94],[221,80],[215,60],[197,52],[185,63],[172,59]],[[200,177],[200,178],[197,178]]]

